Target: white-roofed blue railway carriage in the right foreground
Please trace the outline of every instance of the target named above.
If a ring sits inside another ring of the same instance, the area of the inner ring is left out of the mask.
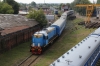
[[[50,66],[95,66],[100,57],[100,28],[95,30]]]

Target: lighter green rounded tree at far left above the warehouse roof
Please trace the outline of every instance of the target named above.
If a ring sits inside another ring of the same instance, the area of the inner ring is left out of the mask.
[[[12,14],[14,12],[12,6],[7,3],[0,3],[0,13],[1,14]]]

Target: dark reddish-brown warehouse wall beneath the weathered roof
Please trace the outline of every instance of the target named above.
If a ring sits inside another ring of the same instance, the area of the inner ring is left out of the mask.
[[[40,26],[36,25],[34,27],[0,36],[0,53],[7,51],[20,43],[29,41],[32,34],[38,30],[40,30]]]

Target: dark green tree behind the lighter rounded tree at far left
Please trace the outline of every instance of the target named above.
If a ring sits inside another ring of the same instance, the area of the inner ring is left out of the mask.
[[[14,9],[14,14],[19,13],[19,4],[14,0],[3,0],[4,2],[8,3]]]

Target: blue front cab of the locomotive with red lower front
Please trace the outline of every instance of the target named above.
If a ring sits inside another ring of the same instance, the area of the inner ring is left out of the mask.
[[[31,52],[33,54],[41,54],[42,48],[47,43],[47,35],[43,32],[35,33],[32,37]]]

